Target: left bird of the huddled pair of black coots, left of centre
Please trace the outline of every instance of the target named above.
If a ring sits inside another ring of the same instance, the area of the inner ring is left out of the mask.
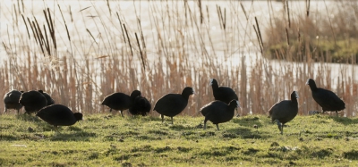
[[[113,93],[106,96],[102,104],[110,108],[109,112],[112,112],[112,109],[119,110],[122,116],[124,116],[123,111],[132,107],[135,97],[137,96],[141,96],[141,91],[134,90],[131,96],[125,95],[124,93]]]

